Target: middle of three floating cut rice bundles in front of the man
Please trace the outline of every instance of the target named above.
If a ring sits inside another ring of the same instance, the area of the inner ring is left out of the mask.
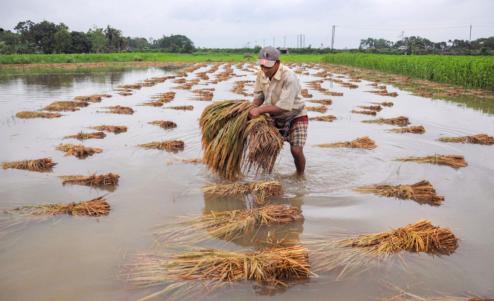
[[[157,225],[153,229],[160,242],[204,241],[210,237],[234,239],[245,233],[255,233],[262,226],[289,224],[302,220],[303,216],[296,207],[287,205],[267,205],[253,209],[233,211],[205,212],[200,216],[191,216],[185,221]]]

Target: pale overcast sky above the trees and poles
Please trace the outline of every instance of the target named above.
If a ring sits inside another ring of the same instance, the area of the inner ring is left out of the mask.
[[[196,46],[234,48],[331,44],[357,48],[360,39],[398,40],[420,36],[432,41],[494,36],[494,0],[0,0],[0,27],[19,21],[63,22],[70,31],[87,32],[93,24],[120,29],[124,36],[161,38],[185,35]]]

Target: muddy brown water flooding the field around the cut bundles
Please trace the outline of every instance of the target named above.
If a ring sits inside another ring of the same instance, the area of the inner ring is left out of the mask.
[[[208,70],[212,65],[195,73]],[[224,65],[223,65],[224,66]],[[223,66],[216,74],[223,71]],[[213,101],[242,99],[230,92],[235,80],[255,79],[253,72],[239,71],[218,84],[196,85],[193,89],[211,88]],[[318,70],[310,70],[311,74]],[[136,300],[157,289],[124,290],[115,279],[124,255],[148,250],[153,237],[146,235],[149,227],[176,220],[177,215],[196,214],[201,210],[239,209],[245,205],[234,199],[205,200],[199,188],[219,180],[201,165],[183,164],[175,159],[201,156],[198,117],[209,102],[188,100],[192,93],[173,89],[175,100],[165,106],[193,105],[193,111],[141,107],[156,93],[172,90],[177,84],[170,80],[153,87],[143,87],[131,96],[112,91],[118,85],[142,82],[172,71],[163,68],[98,69],[26,75],[0,75],[0,161],[52,157],[57,162],[52,173],[23,170],[0,170],[0,208],[9,209],[42,203],[89,200],[108,193],[85,186],[62,187],[57,175],[118,173],[120,186],[106,196],[112,211],[98,221],[90,218],[56,217],[29,226],[0,238],[0,300]],[[186,79],[194,78],[189,74]],[[209,77],[214,78],[212,75]],[[302,85],[319,79],[298,75]],[[347,81],[347,79],[345,79]],[[204,81],[202,81],[204,83]],[[427,99],[387,85],[396,98],[364,92],[370,82],[358,83],[348,89],[339,84],[322,83],[323,88],[343,92],[342,97],[327,97],[309,89],[313,99],[331,98],[327,114],[338,117],[333,122],[311,121],[306,147],[306,176],[299,179],[288,144],[282,151],[273,179],[282,182],[286,195],[276,200],[302,210],[305,220],[292,225],[311,234],[330,233],[333,228],[363,232],[381,232],[425,218],[438,226],[454,230],[459,242],[451,256],[404,256],[385,268],[372,268],[356,277],[342,277],[329,272],[312,277],[305,284],[291,283],[277,292],[246,283],[234,291],[215,295],[222,300],[369,300],[393,296],[382,287],[381,279],[407,288],[415,294],[431,295],[431,291],[456,296],[467,291],[490,295],[494,289],[494,147],[449,144],[435,141],[441,136],[494,134],[493,101],[469,97],[463,99]],[[252,91],[248,86],[247,90]],[[52,101],[68,100],[78,95],[109,93],[101,103],[91,104],[77,112],[54,119],[19,119],[19,111],[38,110]],[[423,125],[426,133],[388,133],[391,125],[361,123],[371,116],[349,113],[368,102],[391,101],[378,117],[410,117],[412,125]],[[473,104],[473,105],[472,105]],[[133,115],[100,113],[103,106],[130,106]],[[307,103],[308,106],[317,104]],[[164,106],[164,107],[165,107]],[[309,117],[323,115],[309,112]],[[177,128],[163,130],[147,124],[152,120],[172,120]],[[105,139],[84,141],[88,147],[103,149],[86,159],[64,157],[55,146],[78,143],[62,140],[88,126],[100,124],[126,125],[128,131],[109,133]],[[375,140],[374,150],[323,149],[314,145],[349,141],[369,135]],[[144,150],[138,144],[161,140],[183,140],[185,150],[170,153]],[[396,157],[438,154],[461,154],[468,167],[455,170],[447,166],[391,161]],[[169,162],[172,162],[169,164]],[[431,207],[410,200],[380,198],[352,191],[368,184],[412,184],[429,180],[444,205]],[[206,246],[224,245],[212,240]],[[229,243],[226,248],[242,250],[246,243]],[[425,292],[425,293],[424,293]],[[395,294],[397,295],[397,293]]]

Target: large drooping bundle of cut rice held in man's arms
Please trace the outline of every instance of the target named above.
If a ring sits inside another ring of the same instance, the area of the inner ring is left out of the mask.
[[[247,119],[254,107],[249,101],[226,100],[207,106],[201,115],[203,160],[222,179],[236,181],[247,164],[248,170],[271,172],[283,147],[283,137],[266,115]]]

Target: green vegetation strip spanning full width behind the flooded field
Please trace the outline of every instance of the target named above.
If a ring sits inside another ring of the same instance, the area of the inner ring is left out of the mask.
[[[101,53],[0,55],[0,65],[130,61],[245,61],[241,54]],[[494,91],[494,57],[440,55],[383,55],[366,53],[288,54],[288,62],[326,62],[391,74],[408,75],[439,83]]]

